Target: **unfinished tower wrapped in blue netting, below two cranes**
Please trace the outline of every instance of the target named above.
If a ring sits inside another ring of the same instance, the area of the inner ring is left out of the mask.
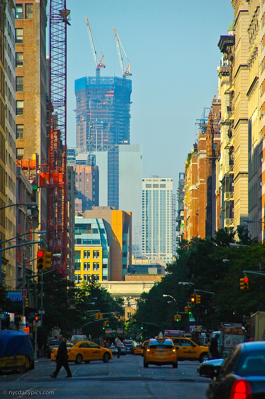
[[[108,152],[108,206],[119,207],[119,144],[130,143],[132,81],[125,77],[75,80],[77,154]]]

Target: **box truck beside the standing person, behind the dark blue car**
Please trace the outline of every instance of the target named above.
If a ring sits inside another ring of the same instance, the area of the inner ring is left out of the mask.
[[[228,354],[242,342],[245,342],[246,330],[240,323],[221,323],[220,355],[227,358]]]

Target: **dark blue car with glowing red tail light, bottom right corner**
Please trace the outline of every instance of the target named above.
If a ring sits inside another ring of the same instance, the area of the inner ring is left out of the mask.
[[[220,369],[216,370],[214,363],[208,364],[204,375],[212,378],[206,390],[208,399],[265,398],[265,342],[237,345]]]

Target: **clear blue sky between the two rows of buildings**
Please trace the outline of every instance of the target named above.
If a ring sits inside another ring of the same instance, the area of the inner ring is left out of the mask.
[[[67,8],[68,146],[76,146],[75,79],[95,75],[87,16],[97,54],[104,53],[101,75],[122,76],[113,26],[130,59],[130,139],[143,144],[143,177],[173,177],[176,190],[196,139],[196,119],[217,94],[217,43],[234,20],[231,1],[67,0]]]

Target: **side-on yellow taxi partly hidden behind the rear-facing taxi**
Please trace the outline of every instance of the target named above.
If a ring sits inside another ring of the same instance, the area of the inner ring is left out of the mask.
[[[171,338],[179,360],[198,360],[200,363],[208,360],[208,346],[200,346],[187,337]]]

